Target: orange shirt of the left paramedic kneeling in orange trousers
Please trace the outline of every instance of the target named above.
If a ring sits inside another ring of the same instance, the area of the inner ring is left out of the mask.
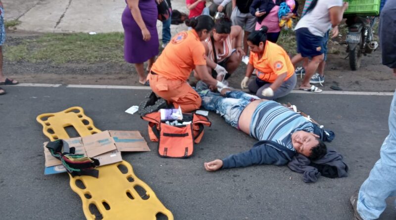
[[[169,80],[190,77],[196,65],[206,65],[205,47],[195,30],[178,33],[159,55],[151,70]]]

